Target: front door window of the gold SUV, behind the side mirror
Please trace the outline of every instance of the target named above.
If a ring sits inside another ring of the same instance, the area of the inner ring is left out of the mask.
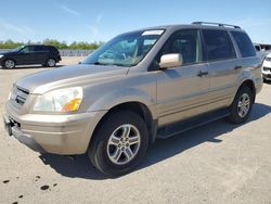
[[[197,63],[203,60],[199,31],[196,29],[183,29],[175,33],[166,42],[157,56],[159,62],[163,54],[180,53],[183,64]]]

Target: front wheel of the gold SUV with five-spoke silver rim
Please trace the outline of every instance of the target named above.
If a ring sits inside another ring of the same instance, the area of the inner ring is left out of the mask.
[[[99,126],[88,155],[92,164],[109,176],[132,170],[144,157],[149,146],[145,122],[130,111],[114,112]]]

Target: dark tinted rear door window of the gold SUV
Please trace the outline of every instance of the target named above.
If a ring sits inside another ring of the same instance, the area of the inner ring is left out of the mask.
[[[205,53],[209,61],[236,58],[230,36],[224,30],[204,29]]]

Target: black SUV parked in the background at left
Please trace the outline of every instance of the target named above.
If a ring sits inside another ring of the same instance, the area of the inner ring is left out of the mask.
[[[3,68],[14,68],[16,65],[28,64],[42,64],[42,66],[53,67],[60,61],[61,54],[53,46],[22,46],[10,52],[0,53],[0,65]]]

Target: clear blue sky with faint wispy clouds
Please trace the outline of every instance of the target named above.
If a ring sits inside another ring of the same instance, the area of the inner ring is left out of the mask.
[[[4,0],[0,41],[107,41],[139,28],[195,21],[240,25],[271,43],[271,0]]]

